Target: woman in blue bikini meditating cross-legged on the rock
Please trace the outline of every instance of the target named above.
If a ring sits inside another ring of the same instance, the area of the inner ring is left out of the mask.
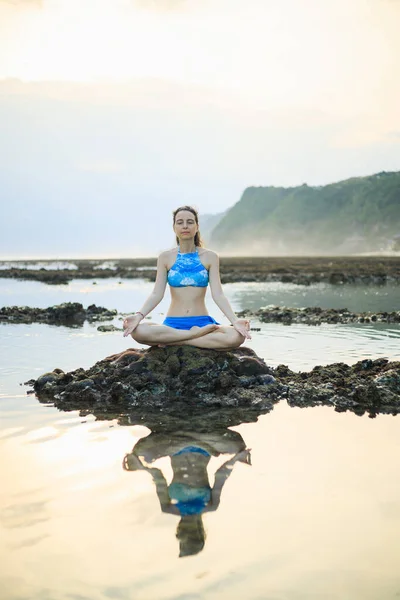
[[[154,289],[141,309],[124,320],[124,336],[140,344],[190,345],[198,348],[237,348],[250,339],[250,323],[237,319],[224,292],[219,274],[219,258],[202,247],[197,212],[182,206],[173,213],[177,248],[162,252],[157,261]],[[161,302],[167,283],[171,305],[162,325],[143,322]],[[232,323],[219,325],[209,316],[205,295],[208,283],[214,302]]]

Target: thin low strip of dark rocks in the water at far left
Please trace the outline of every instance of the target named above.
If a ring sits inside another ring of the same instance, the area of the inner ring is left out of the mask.
[[[84,321],[113,319],[116,310],[91,304],[86,309],[79,302],[64,302],[48,308],[5,306],[0,308],[0,321],[6,323],[49,323],[52,325],[82,325]]]

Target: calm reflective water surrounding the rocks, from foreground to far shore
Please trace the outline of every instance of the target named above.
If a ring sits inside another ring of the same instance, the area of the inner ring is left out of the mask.
[[[0,279],[0,305],[80,301],[128,312],[151,287]],[[398,289],[225,286],[236,310],[394,310]],[[166,298],[154,320],[167,305]],[[209,308],[223,320],[211,300]],[[395,325],[253,325],[261,331],[249,345],[271,365],[399,360]],[[399,419],[281,402],[233,432],[199,433],[187,423],[186,431],[161,435],[59,412],[20,385],[54,367],[89,367],[128,345],[120,333],[89,324],[0,326],[2,600],[400,597]],[[186,454],[178,464],[176,453],[188,445],[209,457]],[[203,515],[166,512],[165,493],[179,477],[209,484],[213,501]]]

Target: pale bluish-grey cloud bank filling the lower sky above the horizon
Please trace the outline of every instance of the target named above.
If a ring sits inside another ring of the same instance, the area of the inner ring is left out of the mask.
[[[386,113],[256,110],[193,84],[0,81],[0,115],[0,255],[10,257],[154,255],[173,243],[165,223],[179,204],[215,213],[250,185],[399,168],[400,129]],[[135,216],[126,236],[121,215]]]

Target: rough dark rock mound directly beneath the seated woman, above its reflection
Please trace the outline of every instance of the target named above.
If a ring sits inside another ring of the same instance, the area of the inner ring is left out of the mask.
[[[153,347],[130,350],[120,356],[96,363],[91,369],[78,369],[60,375],[47,373],[34,382],[39,399],[50,396],[54,404],[67,410],[85,409],[90,390],[90,407],[115,410],[115,405],[130,410],[160,406],[167,409],[177,400],[188,406],[224,405],[272,406],[279,398],[280,384],[271,369],[249,348],[229,352],[201,350],[190,346]],[[238,375],[240,373],[240,376]],[[44,389],[44,382],[51,389]],[[274,390],[269,389],[274,387]],[[284,390],[283,390],[284,391]],[[114,408],[112,408],[114,407]]]

